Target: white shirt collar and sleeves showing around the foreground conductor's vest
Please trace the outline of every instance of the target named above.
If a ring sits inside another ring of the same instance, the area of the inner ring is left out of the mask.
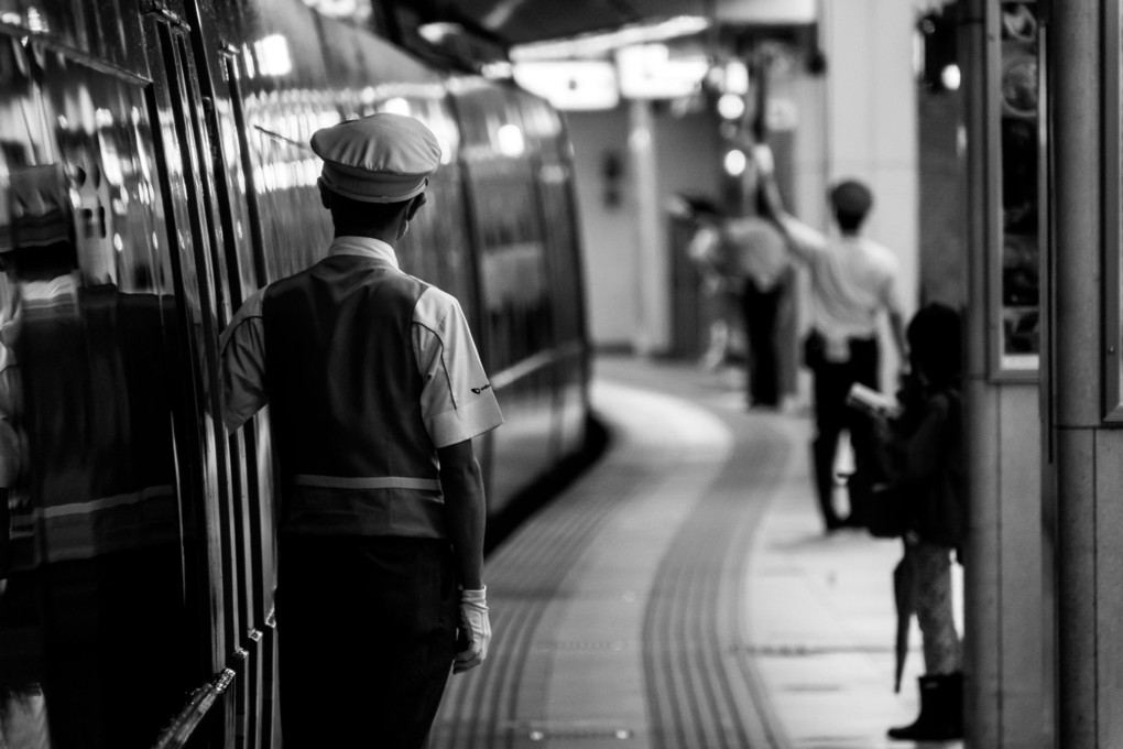
[[[367,237],[337,237],[328,255],[373,257],[398,268],[393,247]],[[262,317],[265,289],[243,303],[222,334],[223,421],[230,430],[267,402]],[[422,420],[435,447],[462,442],[503,423],[468,322],[454,296],[436,286],[421,294],[413,308],[412,339],[418,372],[424,378]]]

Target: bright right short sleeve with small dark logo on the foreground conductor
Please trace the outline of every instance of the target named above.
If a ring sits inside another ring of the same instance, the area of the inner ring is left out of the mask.
[[[413,350],[424,381],[421,418],[433,446],[463,442],[503,423],[468,321],[439,289],[426,290],[413,310]]]

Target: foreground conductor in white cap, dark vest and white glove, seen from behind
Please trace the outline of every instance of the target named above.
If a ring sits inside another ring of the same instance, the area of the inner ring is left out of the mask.
[[[457,301],[398,266],[437,138],[378,113],[311,145],[327,257],[222,335],[226,424],[268,403],[282,476],[281,730],[286,749],[423,747],[449,668],[487,655],[472,438],[503,419]]]

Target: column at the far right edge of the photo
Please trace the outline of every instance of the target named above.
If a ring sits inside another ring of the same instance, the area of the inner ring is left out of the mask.
[[[1057,743],[1123,746],[1123,431],[1105,426],[1104,176],[1119,179],[1119,154],[1104,153],[1103,128],[1120,112],[1104,80],[1102,13],[1117,4],[1053,2],[1049,75],[1054,162],[1052,347],[1057,492]],[[1116,33],[1117,34],[1117,33]],[[1113,40],[1107,39],[1108,45]],[[1108,57],[1107,64],[1119,65]],[[1117,92],[1115,92],[1117,97]],[[1107,165],[1105,168],[1104,165]],[[1114,355],[1112,356],[1114,359]]]

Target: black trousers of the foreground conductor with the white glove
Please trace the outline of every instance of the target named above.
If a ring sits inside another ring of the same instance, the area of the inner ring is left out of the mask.
[[[456,648],[448,541],[283,537],[285,749],[424,747]]]

